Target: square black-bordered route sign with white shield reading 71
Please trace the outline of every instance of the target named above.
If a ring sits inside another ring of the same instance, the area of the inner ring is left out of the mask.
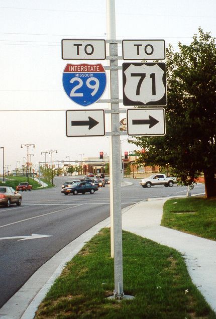
[[[123,63],[123,104],[167,104],[165,63]]]

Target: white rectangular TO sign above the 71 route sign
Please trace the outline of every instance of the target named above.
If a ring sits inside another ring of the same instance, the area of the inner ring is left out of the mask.
[[[164,40],[123,40],[123,60],[163,60]]]

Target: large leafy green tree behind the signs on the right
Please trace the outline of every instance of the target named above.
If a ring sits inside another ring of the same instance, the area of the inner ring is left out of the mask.
[[[207,197],[216,196],[216,48],[215,38],[200,28],[190,45],[166,50],[166,135],[135,137],[145,149],[139,163],[172,167],[184,185],[204,173]]]

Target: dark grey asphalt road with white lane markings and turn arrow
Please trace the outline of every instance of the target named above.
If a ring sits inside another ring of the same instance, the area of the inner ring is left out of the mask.
[[[31,275],[64,246],[110,215],[110,186],[94,194],[65,196],[57,177],[55,188],[21,192],[20,207],[0,207],[0,307],[20,289]],[[122,187],[122,207],[151,197],[185,195],[187,187],[163,185],[143,188],[139,180]],[[191,193],[203,193],[198,184]],[[37,239],[16,238],[31,234]],[[15,238],[10,238],[15,237]],[[3,239],[6,238],[6,239]],[[22,240],[20,240],[22,239]]]

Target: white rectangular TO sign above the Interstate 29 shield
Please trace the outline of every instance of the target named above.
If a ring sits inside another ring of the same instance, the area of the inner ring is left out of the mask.
[[[106,58],[105,40],[63,39],[61,49],[63,60],[104,60]]]

